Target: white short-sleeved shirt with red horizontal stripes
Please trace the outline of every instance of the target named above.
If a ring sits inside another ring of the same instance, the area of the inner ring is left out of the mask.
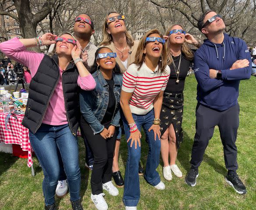
[[[152,71],[142,64],[131,64],[124,72],[122,90],[133,93],[129,101],[131,112],[136,115],[145,115],[153,109],[153,101],[160,91],[164,91],[170,76],[170,67],[166,66],[164,72]]]

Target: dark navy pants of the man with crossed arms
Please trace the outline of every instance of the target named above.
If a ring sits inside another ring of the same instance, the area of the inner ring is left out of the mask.
[[[236,172],[238,164],[235,141],[239,126],[239,110],[238,104],[222,112],[201,104],[197,105],[196,134],[190,161],[192,168],[198,168],[203,161],[203,154],[209,140],[213,137],[214,127],[218,126],[226,168],[231,172]]]

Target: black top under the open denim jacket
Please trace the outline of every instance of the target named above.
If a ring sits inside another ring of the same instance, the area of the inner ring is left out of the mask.
[[[106,79],[105,79],[106,80]],[[111,122],[112,117],[114,115],[115,107],[116,107],[116,97],[114,95],[114,80],[113,78],[111,80],[106,80],[108,84],[108,105],[106,113],[101,121],[101,124]]]

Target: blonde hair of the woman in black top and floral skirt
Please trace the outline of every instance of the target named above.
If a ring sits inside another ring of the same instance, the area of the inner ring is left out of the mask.
[[[165,35],[166,36],[169,36],[169,32],[171,31],[171,29],[175,26],[175,25],[178,25],[182,28],[183,31],[184,28],[182,27],[182,25],[180,24],[174,24],[174,25],[171,25],[167,31],[165,32]],[[172,56],[171,56],[171,52],[170,52],[170,48],[171,48],[171,43],[170,43],[170,40],[169,38],[167,39],[167,42],[166,42],[166,48],[167,48],[167,64],[171,64],[172,63]],[[181,45],[181,52],[182,54],[185,56],[185,58],[187,60],[193,60],[194,58],[194,53],[193,51],[188,47],[188,43],[187,42],[184,42],[182,45]]]

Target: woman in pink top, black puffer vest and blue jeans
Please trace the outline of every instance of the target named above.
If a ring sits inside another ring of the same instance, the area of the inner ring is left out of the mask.
[[[56,43],[55,54],[31,52],[27,47]],[[0,50],[28,66],[32,80],[22,125],[43,169],[45,210],[56,210],[55,190],[60,176],[60,159],[67,175],[71,206],[83,210],[80,201],[81,174],[78,159],[80,89],[91,91],[95,81],[80,58],[82,49],[68,32],[58,37],[46,33],[38,38],[13,38],[0,43]]]

